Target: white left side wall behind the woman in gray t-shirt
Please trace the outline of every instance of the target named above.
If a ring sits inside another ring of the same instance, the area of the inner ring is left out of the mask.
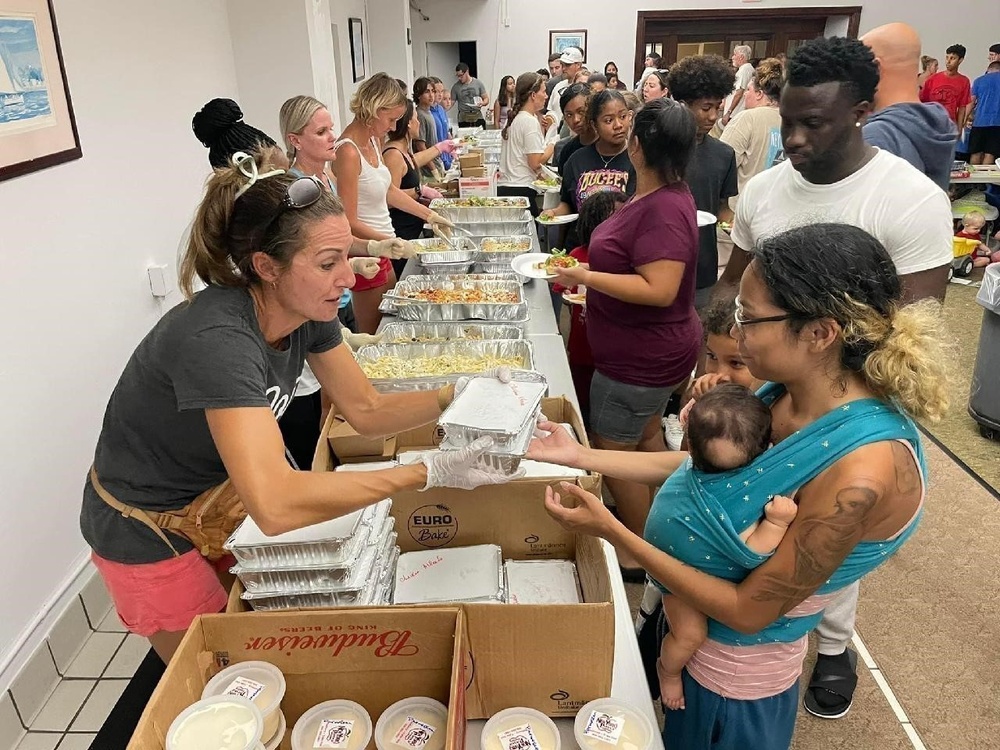
[[[146,267],[173,276],[209,168],[191,117],[238,99],[224,0],[55,6],[84,156],[0,182],[0,670],[86,559],[104,408],[159,314]]]

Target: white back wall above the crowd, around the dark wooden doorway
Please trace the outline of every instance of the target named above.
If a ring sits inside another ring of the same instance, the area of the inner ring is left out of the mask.
[[[426,46],[431,42],[475,40],[478,43],[479,78],[492,96],[500,78],[517,76],[527,70],[545,67],[548,58],[549,29],[587,29],[587,64],[602,69],[608,60],[618,64],[623,79],[631,83],[635,58],[635,33],[639,10],[681,10],[698,7],[755,8],[822,6],[831,8],[861,5],[861,33],[891,21],[906,21],[923,36],[928,54],[944,59],[950,44],[961,42],[969,49],[963,68],[969,76],[986,67],[986,50],[996,42],[997,25],[970,22],[970,19],[998,17],[997,0],[953,0],[942,12],[940,3],[907,0],[827,0],[823,3],[800,0],[768,0],[761,5],[746,5],[740,0],[616,0],[578,2],[569,6],[537,0],[420,0],[420,8],[430,17],[422,21],[415,12],[413,27],[413,64],[417,75],[426,74]],[[506,6],[506,13],[503,8]],[[505,18],[510,25],[505,26]],[[833,29],[839,29],[834,24]]]

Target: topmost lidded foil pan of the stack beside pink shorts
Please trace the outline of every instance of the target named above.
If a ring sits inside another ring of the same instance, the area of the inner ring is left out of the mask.
[[[342,565],[357,557],[367,540],[370,527],[362,523],[366,511],[273,537],[247,516],[224,546],[246,569]]]

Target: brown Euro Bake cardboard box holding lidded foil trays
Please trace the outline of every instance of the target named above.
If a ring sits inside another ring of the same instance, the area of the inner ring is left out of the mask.
[[[571,424],[589,445],[580,416],[564,397],[544,399],[542,411],[554,422]],[[435,424],[402,432],[397,451],[434,446],[441,438]],[[321,438],[313,469],[331,468],[328,442]],[[604,548],[597,539],[567,532],[545,512],[545,487],[559,481],[521,479],[471,491],[434,488],[393,497],[397,543],[404,552],[498,544],[505,558],[576,561],[584,604],[462,605],[471,649],[470,719],[512,706],[575,716],[585,703],[611,694],[615,614]],[[600,495],[599,474],[575,481]],[[231,611],[246,611],[240,593],[237,582]]]

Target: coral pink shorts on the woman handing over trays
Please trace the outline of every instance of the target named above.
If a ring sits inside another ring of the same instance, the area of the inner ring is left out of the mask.
[[[228,555],[211,563],[198,550],[137,565],[105,560],[96,552],[91,552],[90,558],[108,587],[122,624],[144,638],[160,631],[185,631],[198,615],[224,610],[229,594],[216,570],[226,570],[235,563]]]

